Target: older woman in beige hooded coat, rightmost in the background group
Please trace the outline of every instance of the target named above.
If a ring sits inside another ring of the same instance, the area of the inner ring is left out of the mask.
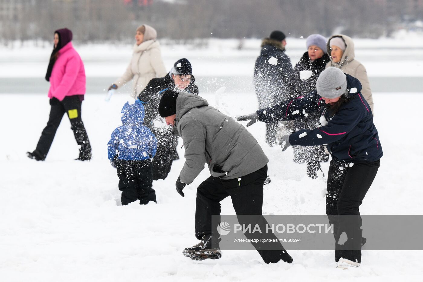
[[[371,95],[367,71],[363,64],[354,58],[354,42],[352,41],[351,37],[343,34],[333,35],[327,41],[326,47],[327,53],[330,55],[330,62],[326,64],[326,68],[330,66],[336,66],[344,73],[352,75],[353,77],[360,80],[361,86],[363,87],[361,93],[370,105],[372,113],[374,113],[373,97]]]

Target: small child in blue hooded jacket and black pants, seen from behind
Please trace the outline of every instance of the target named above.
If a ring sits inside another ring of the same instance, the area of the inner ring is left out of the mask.
[[[122,205],[140,200],[140,204],[156,202],[152,188],[151,158],[156,154],[157,139],[143,125],[144,106],[140,100],[126,102],[122,108],[122,124],[107,143],[110,163],[117,169]]]

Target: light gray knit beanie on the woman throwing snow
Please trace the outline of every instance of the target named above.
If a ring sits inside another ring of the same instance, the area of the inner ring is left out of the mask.
[[[316,83],[317,93],[324,98],[340,97],[346,91],[346,75],[335,66],[320,73]]]

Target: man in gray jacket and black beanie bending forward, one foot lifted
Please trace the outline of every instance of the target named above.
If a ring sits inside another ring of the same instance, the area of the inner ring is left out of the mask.
[[[220,215],[220,201],[231,196],[237,215],[252,215],[263,226],[263,185],[269,159],[257,140],[242,124],[209,106],[207,100],[195,94],[166,91],[159,102],[159,114],[173,125],[185,147],[185,163],[176,180],[176,191],[184,196],[185,185],[191,184],[207,163],[211,176],[197,188],[195,237],[201,240],[186,248],[183,254],[193,260],[221,257],[217,226],[212,228],[211,216]],[[239,223],[243,219],[239,219]],[[251,222],[250,222],[251,223]],[[245,234],[247,238],[255,236]],[[271,248],[258,250],[265,263],[293,261],[276,236]],[[253,243],[256,249],[259,243]],[[269,249],[271,249],[269,251]]]

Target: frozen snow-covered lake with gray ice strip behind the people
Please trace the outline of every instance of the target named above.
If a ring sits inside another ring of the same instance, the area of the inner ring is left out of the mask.
[[[291,63],[305,52],[305,39],[287,39],[286,53]],[[208,45],[162,45],[167,69],[179,58],[188,58],[200,93],[214,92],[222,86],[227,93],[253,91],[252,76],[261,41],[211,40]],[[419,92],[423,89],[423,40],[354,39],[355,58],[368,72],[373,92]],[[131,45],[93,44],[78,46],[85,64],[87,93],[105,93],[126,69],[132,55]],[[46,93],[44,80],[51,47],[36,47],[29,42],[9,49],[0,47],[0,94]],[[129,86],[132,83],[129,83]],[[129,88],[118,92],[126,93]]]

